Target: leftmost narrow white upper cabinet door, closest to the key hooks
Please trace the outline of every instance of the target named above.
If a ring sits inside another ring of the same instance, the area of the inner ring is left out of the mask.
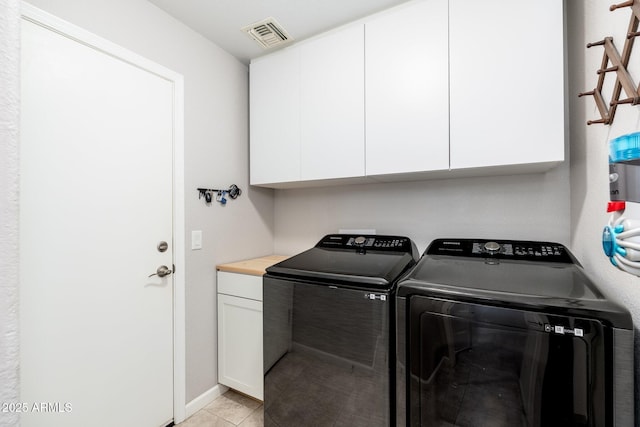
[[[252,185],[300,180],[300,58],[285,49],[251,62]]]

